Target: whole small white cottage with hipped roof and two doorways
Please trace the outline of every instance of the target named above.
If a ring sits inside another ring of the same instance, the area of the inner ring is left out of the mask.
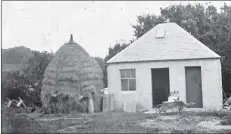
[[[158,24],[107,64],[115,109],[152,109],[173,91],[195,108],[222,108],[220,56],[176,23]]]

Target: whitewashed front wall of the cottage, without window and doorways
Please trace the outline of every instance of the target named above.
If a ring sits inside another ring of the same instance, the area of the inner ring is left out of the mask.
[[[109,64],[108,90],[115,96],[115,109],[135,103],[136,111],[152,109],[152,68],[169,68],[170,92],[178,90],[186,102],[185,66],[201,66],[203,108],[222,108],[222,78],[219,59],[156,61]],[[136,69],[136,91],[121,91],[120,69]],[[128,107],[128,106],[126,106]]]

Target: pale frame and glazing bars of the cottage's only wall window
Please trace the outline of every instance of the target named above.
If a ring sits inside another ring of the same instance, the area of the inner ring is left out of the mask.
[[[122,74],[123,72],[122,71],[124,71],[124,74]],[[127,76],[127,72],[129,71],[129,76]],[[134,76],[132,76],[132,71],[134,71]],[[123,77],[122,77],[122,75],[124,75]],[[127,90],[123,90],[123,87],[122,87],[122,80],[127,80]],[[134,90],[130,90],[130,80],[135,80],[135,89]],[[135,92],[136,91],[136,69],[134,69],[134,68],[131,68],[131,69],[120,69],[120,82],[121,82],[121,92],[125,92],[125,93],[127,93],[127,92]]]

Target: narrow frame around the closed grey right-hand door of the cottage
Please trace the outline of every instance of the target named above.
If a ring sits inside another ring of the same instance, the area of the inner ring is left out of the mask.
[[[187,80],[186,80],[186,68],[195,68],[198,67],[200,68],[200,77],[201,77],[201,104],[202,104],[202,108],[204,107],[203,104],[203,80],[202,80],[202,66],[185,66],[184,67],[184,72],[185,72],[185,96],[186,96],[186,103],[188,103],[188,95],[187,95]]]

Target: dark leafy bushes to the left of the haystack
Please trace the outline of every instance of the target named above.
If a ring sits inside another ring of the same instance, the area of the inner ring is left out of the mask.
[[[27,105],[41,106],[41,82],[46,66],[52,54],[33,51],[33,55],[22,61],[22,69],[14,72],[3,72],[2,99],[21,97]]]

